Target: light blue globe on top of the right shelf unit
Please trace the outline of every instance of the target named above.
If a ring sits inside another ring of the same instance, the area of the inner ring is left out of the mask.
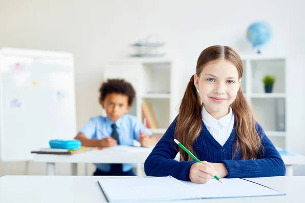
[[[260,53],[260,47],[271,38],[271,30],[266,22],[256,22],[251,24],[247,30],[248,41],[252,43],[253,48]]]

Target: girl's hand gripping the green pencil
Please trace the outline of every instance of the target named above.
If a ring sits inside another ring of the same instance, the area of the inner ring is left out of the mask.
[[[201,161],[201,163],[194,163],[191,166],[189,177],[193,183],[206,183],[216,174],[217,172],[212,164],[207,161]]]

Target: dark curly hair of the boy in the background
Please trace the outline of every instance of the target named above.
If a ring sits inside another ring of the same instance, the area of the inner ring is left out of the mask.
[[[133,86],[123,79],[108,79],[100,88],[100,101],[103,101],[107,94],[118,93],[128,96],[128,105],[132,106],[136,92]]]

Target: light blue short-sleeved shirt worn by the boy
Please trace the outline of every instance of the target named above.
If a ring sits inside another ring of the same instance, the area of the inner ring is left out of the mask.
[[[118,139],[120,145],[133,145],[133,140],[139,141],[139,132],[144,129],[144,125],[135,116],[125,114],[117,121],[113,122],[108,117],[96,116],[83,126],[79,132],[85,134],[87,139],[102,140],[106,136],[111,137],[113,128],[111,124],[115,123],[118,132]],[[106,136],[104,136],[104,134]],[[145,128],[144,134],[151,135],[151,132]],[[97,168],[105,173],[110,172],[109,163],[94,163]],[[123,163],[123,172],[128,172],[132,169],[133,163]]]

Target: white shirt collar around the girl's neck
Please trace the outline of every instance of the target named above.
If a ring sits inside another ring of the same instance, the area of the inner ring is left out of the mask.
[[[218,122],[222,125],[222,126],[228,126],[232,116],[233,116],[233,112],[232,112],[232,108],[230,108],[230,111],[227,115],[225,115],[224,117],[221,117],[220,119],[215,119],[214,117],[212,117],[204,108],[204,106],[202,105],[202,111],[201,111],[201,115],[202,115],[202,120],[203,122],[209,126],[209,127],[213,127],[215,126]]]

